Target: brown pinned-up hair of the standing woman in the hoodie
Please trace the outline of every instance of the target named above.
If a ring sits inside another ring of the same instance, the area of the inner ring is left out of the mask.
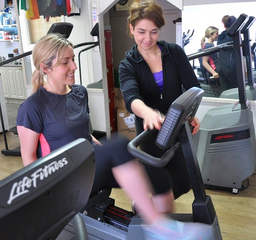
[[[164,26],[163,10],[156,0],[132,0],[129,8],[127,32],[130,37],[133,35],[130,32],[130,24],[134,28],[138,21],[148,19],[160,29]]]

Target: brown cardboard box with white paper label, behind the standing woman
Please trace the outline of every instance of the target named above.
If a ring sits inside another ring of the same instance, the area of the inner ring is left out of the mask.
[[[135,123],[132,124],[132,119],[134,119],[133,115],[131,116],[131,114],[125,108],[118,108],[116,109],[116,118],[118,133],[123,134],[130,140],[134,139],[134,137],[136,137],[136,128]],[[128,118],[129,121],[124,118]],[[127,122],[129,122],[130,124],[126,125]]]

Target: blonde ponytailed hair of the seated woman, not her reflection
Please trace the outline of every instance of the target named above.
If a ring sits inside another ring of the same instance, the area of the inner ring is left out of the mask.
[[[36,67],[31,79],[32,93],[45,83],[45,73],[41,69],[40,64],[44,63],[47,68],[52,68],[54,67],[52,61],[56,58],[55,66],[58,66],[68,46],[74,48],[71,42],[58,33],[47,34],[36,42],[32,51],[33,62]]]

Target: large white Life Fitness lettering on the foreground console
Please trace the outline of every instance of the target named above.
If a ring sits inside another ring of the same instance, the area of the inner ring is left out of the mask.
[[[22,180],[14,182],[7,203],[11,204],[14,199],[28,193],[32,187],[36,188],[38,181],[48,178],[67,164],[68,161],[66,157],[64,157],[61,160],[53,161],[49,165],[45,165],[44,168],[37,169],[30,177],[25,176]]]

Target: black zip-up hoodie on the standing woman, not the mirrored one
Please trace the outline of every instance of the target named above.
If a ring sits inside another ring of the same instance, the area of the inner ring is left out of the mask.
[[[157,44],[160,45],[162,52],[162,92],[156,85],[148,63],[138,52],[137,45],[126,52],[126,58],[120,62],[120,89],[126,109],[130,113],[132,101],[140,99],[149,107],[166,114],[172,102],[182,94],[182,86],[185,90],[200,87],[194,69],[182,48],[165,41],[158,41]],[[142,123],[142,119],[136,119]]]

